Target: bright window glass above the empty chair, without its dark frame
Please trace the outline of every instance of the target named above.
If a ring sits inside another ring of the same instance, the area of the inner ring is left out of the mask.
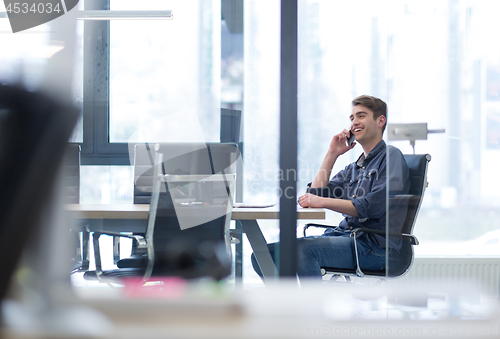
[[[217,141],[220,4],[115,0],[110,9],[174,19],[110,22],[109,141]]]

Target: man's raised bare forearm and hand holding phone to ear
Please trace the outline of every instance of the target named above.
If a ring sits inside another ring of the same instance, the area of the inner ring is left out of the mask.
[[[311,187],[319,188],[328,185],[330,175],[332,174],[332,168],[337,158],[356,145],[356,143],[353,143],[352,146],[347,146],[346,141],[350,133],[350,131],[345,129],[332,138],[328,152],[326,152],[325,158],[314,177]]]

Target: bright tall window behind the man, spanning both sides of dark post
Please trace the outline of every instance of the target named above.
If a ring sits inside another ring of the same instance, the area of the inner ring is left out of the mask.
[[[349,127],[351,100],[384,99],[389,123],[446,129],[416,142],[429,153],[415,226],[417,255],[500,255],[500,45],[497,1],[299,1],[299,194],[331,137]],[[278,201],[279,1],[245,1],[244,168],[247,201]],[[403,153],[406,141],[391,142]],[[334,171],[354,161],[360,146]],[[328,213],[328,222],[343,217]],[[299,229],[302,223],[299,223]],[[266,229],[266,227],[264,227]],[[278,240],[277,225],[265,230]],[[298,233],[300,234],[300,233]],[[472,241],[482,234],[479,240]],[[472,241],[472,242],[469,242]],[[484,245],[484,246],[483,246]]]

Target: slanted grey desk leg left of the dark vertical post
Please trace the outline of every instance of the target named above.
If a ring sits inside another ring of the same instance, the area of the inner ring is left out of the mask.
[[[259,224],[256,220],[241,220],[241,225],[243,226],[243,232],[247,235],[250,246],[252,246],[255,259],[257,259],[260,270],[264,275],[264,280],[276,278],[278,271],[271,253],[269,253],[266,239],[260,230]]]

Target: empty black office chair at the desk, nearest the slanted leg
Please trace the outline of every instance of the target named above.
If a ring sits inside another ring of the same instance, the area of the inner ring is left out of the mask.
[[[85,273],[85,277],[106,281],[123,277],[147,281],[151,276],[225,278],[231,272],[228,240],[236,145],[163,143],[152,148],[136,145],[136,161],[149,158],[148,153],[152,158],[166,155],[169,159],[160,160],[160,166],[144,168],[136,181],[136,188],[150,191],[145,236],[94,232],[96,271]],[[160,182],[159,178],[165,180]],[[102,235],[133,239],[133,256],[118,260],[117,269],[102,270]]]

